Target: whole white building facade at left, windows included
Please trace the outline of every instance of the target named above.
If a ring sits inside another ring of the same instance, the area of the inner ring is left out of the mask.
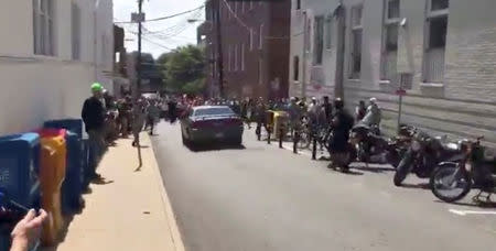
[[[0,134],[79,118],[89,86],[112,86],[111,0],[8,0],[0,9]]]

